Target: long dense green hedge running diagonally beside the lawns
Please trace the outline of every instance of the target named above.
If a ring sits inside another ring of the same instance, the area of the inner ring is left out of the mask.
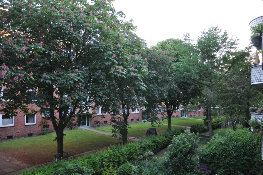
[[[127,161],[133,161],[136,157],[146,153],[146,152],[157,152],[168,146],[173,136],[178,136],[184,132],[184,128],[175,128],[171,131],[166,131],[165,133],[158,136],[148,136],[140,141],[128,143],[124,146],[117,145],[111,146],[112,154],[112,167],[119,167]],[[109,156],[107,150],[102,150],[97,153],[85,154],[84,156],[78,157],[76,160],[71,162],[66,162],[67,165],[80,163],[85,169],[93,169],[95,174],[102,174],[104,169],[104,161],[108,159]],[[53,174],[54,170],[59,167],[64,166],[62,163],[49,164],[41,168],[28,169],[23,171],[22,175],[49,175]],[[81,169],[81,168],[80,168]]]

